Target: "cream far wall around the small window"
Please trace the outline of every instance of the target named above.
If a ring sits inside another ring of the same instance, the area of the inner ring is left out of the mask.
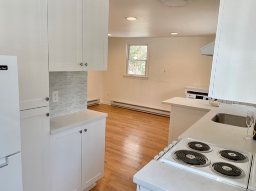
[[[124,44],[127,41],[150,41],[148,80],[124,78]],[[215,40],[206,37],[163,38],[108,38],[108,70],[88,72],[88,100],[100,97],[101,102],[111,100],[138,104],[150,108],[170,110],[162,101],[185,97],[188,85],[209,86],[212,57],[201,55],[200,48]],[[166,82],[155,80],[156,63],[169,63]],[[102,77],[102,82],[100,83]],[[102,90],[100,87],[102,86]],[[108,94],[110,96],[108,96]]]

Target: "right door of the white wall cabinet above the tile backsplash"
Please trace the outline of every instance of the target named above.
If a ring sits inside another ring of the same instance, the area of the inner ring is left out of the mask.
[[[84,70],[107,70],[109,0],[83,0]]]

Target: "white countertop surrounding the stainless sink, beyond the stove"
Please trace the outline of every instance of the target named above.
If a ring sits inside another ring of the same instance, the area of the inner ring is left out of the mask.
[[[184,137],[190,137],[228,148],[244,150],[251,153],[256,152],[256,141],[244,140],[242,138],[243,136],[246,136],[247,128],[212,121],[212,118],[217,113],[226,113],[245,117],[247,111],[252,110],[254,107],[222,103],[220,103],[219,107],[214,107],[209,106],[208,100],[187,99],[180,97],[165,100],[163,101],[163,104],[184,108],[198,108],[206,111],[208,110],[208,113],[183,134],[181,134],[178,137],[178,140],[181,140]],[[250,131],[252,131],[251,128],[249,129],[249,132]]]

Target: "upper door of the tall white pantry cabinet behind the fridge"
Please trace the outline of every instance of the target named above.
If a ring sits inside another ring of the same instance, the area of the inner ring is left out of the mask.
[[[46,0],[0,0],[0,55],[16,55],[20,110],[48,106]]]

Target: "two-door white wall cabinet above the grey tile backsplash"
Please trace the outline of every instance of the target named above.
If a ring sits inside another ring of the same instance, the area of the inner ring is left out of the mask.
[[[107,69],[109,0],[48,0],[49,71]]]

